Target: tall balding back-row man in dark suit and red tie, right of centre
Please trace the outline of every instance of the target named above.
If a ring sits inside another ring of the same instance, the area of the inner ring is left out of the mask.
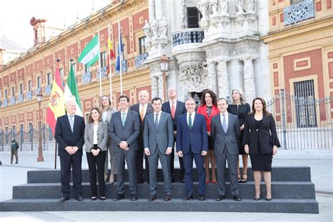
[[[176,141],[178,117],[186,113],[185,103],[177,100],[177,91],[174,86],[169,87],[168,98],[169,101],[162,104],[162,111],[171,114],[172,120],[174,122],[174,141]],[[184,169],[183,158],[179,158],[179,165],[180,165],[179,176],[181,177],[181,182],[184,183],[185,169]],[[171,169],[171,181],[174,182],[174,150],[172,150],[171,152],[170,169]]]

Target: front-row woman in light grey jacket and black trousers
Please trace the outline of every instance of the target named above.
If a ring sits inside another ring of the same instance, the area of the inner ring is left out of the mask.
[[[107,151],[107,123],[102,122],[100,110],[93,107],[89,112],[88,123],[84,129],[84,143],[86,144],[86,159],[89,166],[91,200],[96,200],[97,185],[96,173],[98,176],[98,187],[100,200],[105,200],[104,163]]]

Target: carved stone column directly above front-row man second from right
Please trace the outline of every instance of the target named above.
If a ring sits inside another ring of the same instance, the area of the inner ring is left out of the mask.
[[[218,98],[229,96],[228,69],[226,60],[218,60],[217,65]]]

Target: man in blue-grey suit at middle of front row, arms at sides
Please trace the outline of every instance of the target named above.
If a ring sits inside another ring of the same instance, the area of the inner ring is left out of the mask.
[[[171,200],[171,152],[174,145],[174,124],[171,115],[162,112],[161,98],[152,99],[154,112],[145,117],[143,145],[148,156],[150,177],[149,201],[157,199],[157,166],[158,159],[162,164],[164,176],[164,200]]]

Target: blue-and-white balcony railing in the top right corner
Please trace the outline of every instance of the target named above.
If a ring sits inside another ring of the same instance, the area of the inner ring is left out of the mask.
[[[283,9],[285,25],[315,17],[313,0],[304,0]]]

